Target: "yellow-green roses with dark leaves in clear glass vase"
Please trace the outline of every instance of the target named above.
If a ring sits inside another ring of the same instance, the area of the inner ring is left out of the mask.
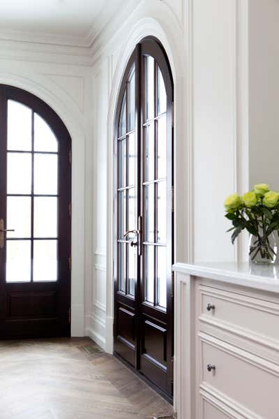
[[[232,231],[232,244],[246,229],[251,235],[250,260],[274,263],[277,244],[273,233],[279,232],[279,193],[270,191],[267,184],[257,184],[243,196],[237,193],[228,196],[224,205],[225,216],[233,225],[227,230]]]

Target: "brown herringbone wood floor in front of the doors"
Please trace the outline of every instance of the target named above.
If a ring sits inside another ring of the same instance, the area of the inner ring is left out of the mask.
[[[143,419],[172,406],[87,338],[0,342],[1,419]]]

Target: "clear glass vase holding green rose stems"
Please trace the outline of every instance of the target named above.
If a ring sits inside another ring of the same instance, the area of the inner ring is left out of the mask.
[[[275,233],[266,236],[262,230],[257,235],[250,235],[250,262],[259,265],[274,265],[277,256],[277,242]]]

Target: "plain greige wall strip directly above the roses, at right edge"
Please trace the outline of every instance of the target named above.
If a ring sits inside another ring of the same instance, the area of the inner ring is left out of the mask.
[[[250,186],[279,190],[279,1],[249,3]]]

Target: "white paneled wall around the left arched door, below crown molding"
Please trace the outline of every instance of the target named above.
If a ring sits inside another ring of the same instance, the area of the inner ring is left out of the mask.
[[[91,134],[91,75],[83,57],[65,47],[0,42],[0,83],[20,87],[48,103],[72,138],[71,332],[84,335],[85,150]]]

